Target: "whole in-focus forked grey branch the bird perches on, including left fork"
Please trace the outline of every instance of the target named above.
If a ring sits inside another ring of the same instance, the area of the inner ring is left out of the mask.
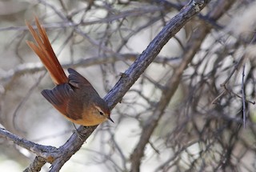
[[[170,20],[170,22],[167,23],[165,27],[163,27],[162,31],[160,31],[153,41],[150,42],[150,45],[146,50],[144,50],[130,68],[122,74],[122,77],[114,86],[113,90],[106,95],[106,102],[108,102],[111,109],[118,102],[121,102],[122,97],[130,87],[133,86],[134,82],[138,80],[140,75],[146,70],[147,66],[154,61],[154,58],[157,57],[160,50],[162,50],[162,47],[166,45],[166,42],[177,34],[182,26],[184,26],[195,14],[198,14],[198,12],[202,10],[208,2],[210,2],[210,0],[205,2],[202,0],[190,1],[188,5],[186,5],[174,18]],[[166,99],[166,102],[168,102],[168,99]],[[26,169],[27,171],[40,170],[46,162],[52,163],[50,171],[59,171],[66,161],[68,161],[70,157],[81,148],[83,142],[90,137],[90,134],[92,134],[96,128],[97,126],[80,126],[78,128],[79,135],[77,133],[72,134],[70,139],[58,149],[53,146],[42,146],[34,142],[27,141],[26,139],[19,138],[4,129],[0,130],[0,135],[3,138],[6,138],[38,155],[30,167]],[[42,158],[44,158],[45,161],[43,161]]]

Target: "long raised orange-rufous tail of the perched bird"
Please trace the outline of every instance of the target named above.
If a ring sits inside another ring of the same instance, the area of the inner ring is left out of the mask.
[[[56,85],[68,82],[68,78],[50,45],[45,28],[40,25],[37,17],[35,17],[35,22],[38,27],[38,33],[28,22],[26,22],[26,26],[28,26],[30,33],[33,35],[38,45],[34,44],[34,42],[26,41],[27,45],[34,50],[34,53],[38,54],[38,57],[41,59],[44,66],[46,66],[46,70],[48,70],[50,77]]]

